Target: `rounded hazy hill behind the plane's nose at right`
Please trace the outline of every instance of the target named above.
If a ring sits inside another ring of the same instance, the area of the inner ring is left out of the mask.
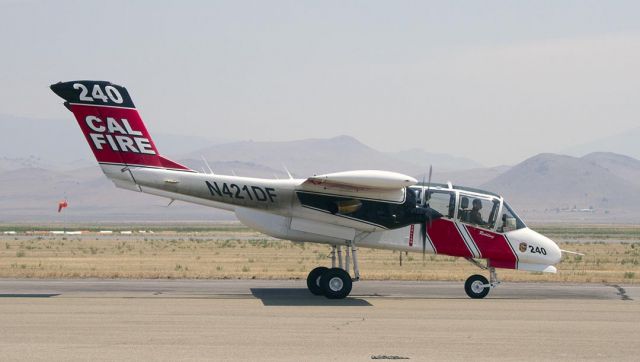
[[[640,184],[620,175],[632,174],[636,162],[615,154],[582,158],[539,154],[481,188],[502,194],[519,213],[536,220],[599,218],[629,222],[640,215]],[[606,165],[617,167],[608,169]],[[572,217],[558,215],[561,213],[572,213]]]

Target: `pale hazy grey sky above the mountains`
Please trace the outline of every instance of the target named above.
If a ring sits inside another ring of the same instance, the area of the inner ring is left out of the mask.
[[[349,134],[512,163],[638,125],[639,15],[638,1],[0,0],[0,113],[71,121],[48,85],[100,79],[152,132]]]

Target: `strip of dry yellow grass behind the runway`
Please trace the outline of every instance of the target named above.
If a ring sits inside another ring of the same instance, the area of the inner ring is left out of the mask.
[[[589,242],[561,243],[563,249],[587,255],[565,256],[558,274],[500,270],[499,275],[504,281],[639,283],[637,238],[604,242],[603,233]],[[421,254],[409,254],[399,266],[398,252],[359,252],[365,279],[461,281],[479,272],[460,258],[427,255],[423,262]],[[281,241],[238,227],[110,236],[2,235],[0,277],[306,278],[314,267],[330,264],[328,254],[326,245]]]

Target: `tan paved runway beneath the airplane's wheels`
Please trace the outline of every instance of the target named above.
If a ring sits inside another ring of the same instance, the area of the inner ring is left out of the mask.
[[[638,360],[640,287],[0,279],[2,360]]]

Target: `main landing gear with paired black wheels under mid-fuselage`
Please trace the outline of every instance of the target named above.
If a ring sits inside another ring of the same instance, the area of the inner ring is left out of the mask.
[[[353,245],[353,242],[347,244],[343,267],[342,247],[333,245],[331,247],[331,268],[320,266],[309,273],[309,276],[307,276],[307,288],[309,288],[309,291],[314,295],[324,295],[329,299],[346,298],[351,293],[353,282],[360,279],[357,251],[358,249]],[[355,276],[353,279],[349,275],[350,264],[353,264],[353,274]]]

